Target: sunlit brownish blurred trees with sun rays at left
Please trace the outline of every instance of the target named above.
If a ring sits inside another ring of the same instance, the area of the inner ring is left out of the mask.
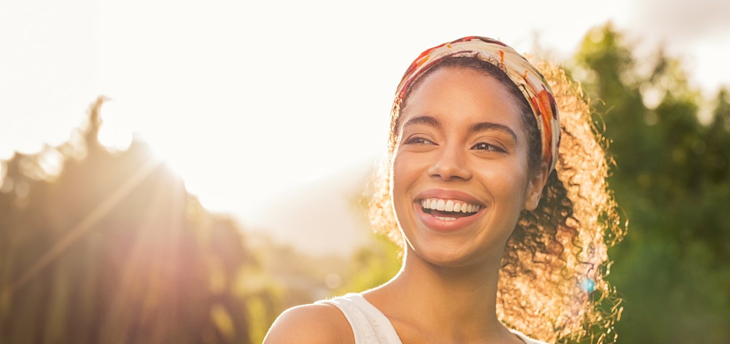
[[[269,296],[240,283],[241,232],[145,144],[104,149],[101,103],[76,139],[3,162],[0,343],[250,343],[246,302]]]

